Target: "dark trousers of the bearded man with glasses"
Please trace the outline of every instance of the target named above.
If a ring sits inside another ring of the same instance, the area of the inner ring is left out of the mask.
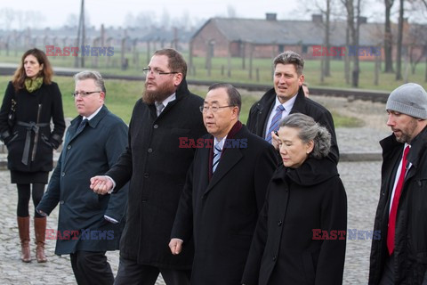
[[[162,273],[166,285],[189,285],[190,270],[138,265],[136,260],[125,259],[121,256],[114,285],[154,285],[158,273]]]

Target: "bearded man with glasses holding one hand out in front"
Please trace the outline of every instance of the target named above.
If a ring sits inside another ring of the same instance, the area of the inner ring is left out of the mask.
[[[158,273],[166,284],[189,284],[192,243],[173,256],[168,248],[178,201],[194,148],[180,148],[180,138],[206,133],[199,107],[203,99],[187,87],[187,63],[173,49],[154,53],[145,92],[133,108],[126,151],[104,176],[91,179],[98,194],[118,191],[130,181],[120,265],[115,284],[152,285]]]

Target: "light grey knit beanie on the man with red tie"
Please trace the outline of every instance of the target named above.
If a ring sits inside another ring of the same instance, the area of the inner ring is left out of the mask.
[[[421,85],[407,83],[391,92],[385,110],[395,110],[414,118],[427,118],[427,93]]]

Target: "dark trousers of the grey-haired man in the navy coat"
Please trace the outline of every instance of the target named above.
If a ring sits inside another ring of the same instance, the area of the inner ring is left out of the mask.
[[[76,251],[69,255],[78,285],[112,285],[114,275],[105,251]]]

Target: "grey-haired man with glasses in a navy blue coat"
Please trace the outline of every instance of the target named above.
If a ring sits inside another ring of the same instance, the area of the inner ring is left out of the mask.
[[[104,106],[101,74],[75,76],[74,98],[79,116],[71,121],[58,165],[36,210],[47,216],[60,204],[55,253],[69,254],[77,283],[113,284],[107,250],[117,250],[125,226],[127,191],[97,195],[89,188],[93,175],[103,174],[125,151],[127,126]]]

